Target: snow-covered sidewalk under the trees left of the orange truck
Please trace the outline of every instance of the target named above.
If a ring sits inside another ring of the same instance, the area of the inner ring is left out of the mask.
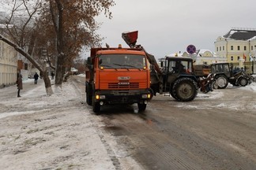
[[[119,161],[115,139],[104,134],[100,116],[81,104],[72,83],[63,83],[62,94],[51,97],[43,80],[36,85],[28,80],[23,86],[21,98],[13,98],[17,87],[0,89],[0,169],[136,167],[129,157],[121,157],[126,165]]]

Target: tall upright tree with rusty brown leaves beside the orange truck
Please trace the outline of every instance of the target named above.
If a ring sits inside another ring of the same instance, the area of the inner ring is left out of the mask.
[[[66,67],[64,64],[73,60],[75,54],[81,50],[81,46],[100,42],[100,39],[96,39],[99,36],[95,34],[95,30],[99,25],[94,17],[104,11],[106,17],[111,18],[109,8],[114,6],[115,2],[113,0],[47,1],[50,4],[51,19],[57,39],[55,86],[61,87]]]

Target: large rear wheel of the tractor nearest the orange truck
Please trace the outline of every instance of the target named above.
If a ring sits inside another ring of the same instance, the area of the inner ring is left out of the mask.
[[[180,102],[190,102],[198,94],[197,83],[187,77],[176,80],[172,90],[175,99]]]

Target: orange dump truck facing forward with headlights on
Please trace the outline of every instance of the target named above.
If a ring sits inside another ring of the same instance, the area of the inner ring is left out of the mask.
[[[103,105],[134,104],[144,111],[150,99],[150,72],[141,49],[92,48],[86,65],[86,102],[94,113]]]

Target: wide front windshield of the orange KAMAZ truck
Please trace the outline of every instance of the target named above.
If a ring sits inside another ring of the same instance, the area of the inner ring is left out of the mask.
[[[145,56],[135,54],[103,54],[99,57],[100,68],[145,68]]]

